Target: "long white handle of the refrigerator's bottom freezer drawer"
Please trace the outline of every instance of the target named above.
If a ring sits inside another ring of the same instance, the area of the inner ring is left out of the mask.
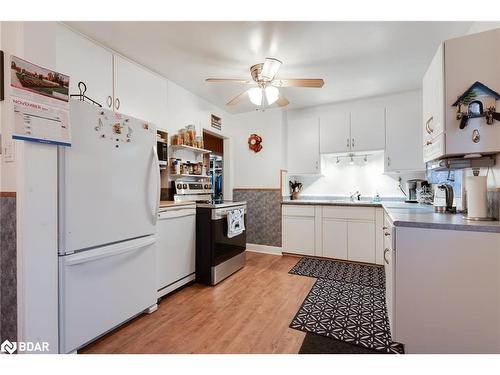
[[[78,264],[92,262],[94,260],[102,258],[108,258],[119,254],[137,251],[149,245],[152,245],[155,242],[156,242],[155,237],[146,237],[137,240],[127,241],[127,244],[125,246],[123,244],[114,244],[105,246],[96,251],[88,250],[82,253],[70,255],[65,260],[64,264],[66,266],[76,266]]]

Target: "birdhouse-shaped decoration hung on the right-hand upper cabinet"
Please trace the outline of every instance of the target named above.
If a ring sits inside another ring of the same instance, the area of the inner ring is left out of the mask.
[[[457,107],[459,128],[464,129],[471,118],[485,117],[488,125],[492,125],[494,120],[500,121],[500,113],[496,111],[498,99],[500,94],[476,81],[453,103],[453,107]]]

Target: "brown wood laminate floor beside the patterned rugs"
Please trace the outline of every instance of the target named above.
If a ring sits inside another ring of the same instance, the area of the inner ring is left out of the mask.
[[[289,328],[316,279],[291,275],[298,258],[247,252],[246,266],[215,287],[194,284],[80,353],[298,353]]]

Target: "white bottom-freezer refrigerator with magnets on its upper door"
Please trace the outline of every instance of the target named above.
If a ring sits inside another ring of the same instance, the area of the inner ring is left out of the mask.
[[[59,171],[59,348],[70,353],[156,304],[156,128],[82,101]]]

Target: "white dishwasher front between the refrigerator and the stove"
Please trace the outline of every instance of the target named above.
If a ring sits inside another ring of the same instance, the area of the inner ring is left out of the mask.
[[[160,212],[156,244],[157,289],[195,272],[196,207]]]

